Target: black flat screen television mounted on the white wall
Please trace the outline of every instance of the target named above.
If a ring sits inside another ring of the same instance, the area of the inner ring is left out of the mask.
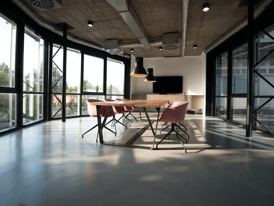
[[[155,78],[156,82],[153,82],[153,93],[183,93],[182,76],[166,76]]]

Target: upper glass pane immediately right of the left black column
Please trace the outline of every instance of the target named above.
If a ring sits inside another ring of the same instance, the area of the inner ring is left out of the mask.
[[[80,93],[81,53],[67,50],[67,93]]]

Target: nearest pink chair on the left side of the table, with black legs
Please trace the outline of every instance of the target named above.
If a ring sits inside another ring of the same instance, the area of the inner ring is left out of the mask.
[[[87,109],[89,111],[89,116],[91,117],[97,117],[97,109],[96,109],[96,105],[91,105],[90,102],[102,102],[101,100],[97,100],[97,99],[87,99]],[[101,106],[100,107],[100,114],[101,114],[101,117],[105,117],[106,113],[107,113],[107,110],[108,110],[109,106]],[[109,113],[109,116],[108,117],[112,117],[114,115],[114,112],[113,112],[113,108],[110,110],[110,113]],[[97,127],[98,124],[96,124],[94,127],[92,127],[90,130],[94,129],[95,127]],[[110,132],[113,132],[111,129],[107,128],[106,126],[104,126],[104,128],[108,129]],[[90,130],[88,130],[87,132],[85,133],[88,133]],[[84,134],[85,134],[84,133]],[[97,138],[96,138],[96,142],[98,142],[98,133],[99,133],[99,130],[97,132]],[[116,136],[116,132],[113,132]],[[84,137],[84,134],[82,135],[82,138]]]

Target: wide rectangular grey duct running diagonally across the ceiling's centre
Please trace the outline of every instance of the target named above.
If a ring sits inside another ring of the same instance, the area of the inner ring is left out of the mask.
[[[144,48],[150,49],[150,37],[145,32],[144,26],[139,22],[139,16],[133,9],[129,0],[106,0],[112,5],[129,25],[135,36],[143,44]],[[140,35],[140,38],[139,38]]]

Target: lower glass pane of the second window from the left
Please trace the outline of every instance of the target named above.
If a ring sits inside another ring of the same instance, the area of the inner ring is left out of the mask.
[[[43,94],[23,95],[23,124],[43,118]]]

